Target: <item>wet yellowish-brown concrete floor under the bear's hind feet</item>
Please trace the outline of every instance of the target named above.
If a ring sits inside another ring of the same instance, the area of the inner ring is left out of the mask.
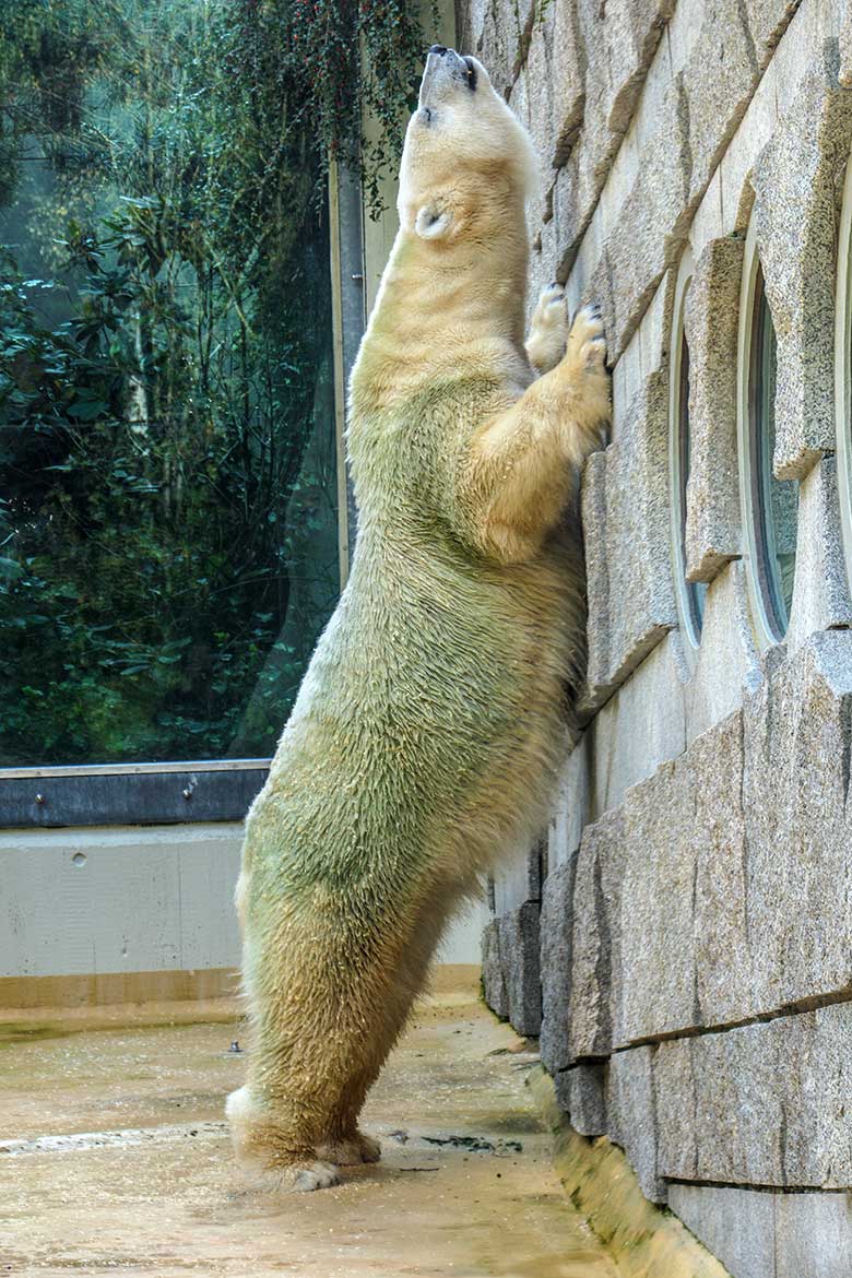
[[[376,1086],[378,1166],[277,1199],[222,1122],[232,1006],[0,1013],[0,1275],[617,1278],[562,1192],[525,1044],[434,996]]]

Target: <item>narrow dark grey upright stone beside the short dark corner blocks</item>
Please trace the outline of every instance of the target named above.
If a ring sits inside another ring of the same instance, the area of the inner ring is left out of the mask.
[[[565,1070],[571,1001],[574,874],[576,858],[552,870],[542,891],[542,1063],[551,1074]]]

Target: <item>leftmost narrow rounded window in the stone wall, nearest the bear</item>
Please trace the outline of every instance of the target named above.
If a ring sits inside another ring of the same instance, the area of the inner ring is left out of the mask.
[[[695,649],[701,639],[706,585],[686,578],[686,511],[690,478],[690,348],[683,330],[683,304],[690,286],[691,258],[685,259],[678,277],[672,330],[672,369],[669,395],[669,460],[672,492],[672,558],[678,592],[681,629]]]

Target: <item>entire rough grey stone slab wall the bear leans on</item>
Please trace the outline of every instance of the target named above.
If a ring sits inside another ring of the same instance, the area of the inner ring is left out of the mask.
[[[614,404],[582,483],[586,727],[545,845],[493,884],[485,993],[540,1034],[577,1131],[620,1144],[734,1278],[852,1273],[852,547],[834,456],[851,13],[457,6],[459,47],[540,156],[530,303],[551,279],[572,307],[600,303]],[[783,643],[755,621],[740,481],[750,253],[778,339],[774,473],[800,482]],[[687,261],[697,647],[672,553]]]

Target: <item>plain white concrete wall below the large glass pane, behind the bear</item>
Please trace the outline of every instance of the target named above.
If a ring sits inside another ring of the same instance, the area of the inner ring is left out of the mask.
[[[241,824],[0,832],[0,978],[236,967]],[[479,962],[484,905],[439,962]]]

